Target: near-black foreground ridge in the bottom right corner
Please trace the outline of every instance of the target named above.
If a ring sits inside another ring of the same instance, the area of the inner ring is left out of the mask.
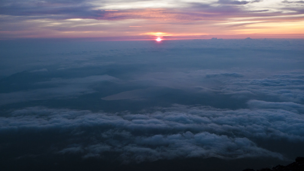
[[[278,165],[273,168],[263,168],[257,171],[303,171],[304,170],[304,157],[297,157],[295,162],[287,165],[282,166]],[[245,169],[243,171],[255,171],[254,169]]]

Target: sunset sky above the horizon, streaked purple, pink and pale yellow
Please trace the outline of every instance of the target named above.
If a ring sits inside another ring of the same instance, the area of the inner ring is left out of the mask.
[[[2,0],[0,39],[304,38],[297,0]]]

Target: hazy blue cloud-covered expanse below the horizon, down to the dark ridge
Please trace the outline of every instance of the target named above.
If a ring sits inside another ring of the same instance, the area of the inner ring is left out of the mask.
[[[303,39],[0,45],[1,170],[242,171],[304,154]]]

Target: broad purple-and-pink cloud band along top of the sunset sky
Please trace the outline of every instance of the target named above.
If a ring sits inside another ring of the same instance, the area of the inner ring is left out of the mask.
[[[219,1],[221,2],[221,1]],[[225,2],[225,3],[224,3]],[[239,1],[223,1],[222,4],[228,2]],[[241,1],[247,2],[247,1]],[[256,2],[256,1],[254,1]],[[247,3],[250,3],[249,1]],[[103,19],[103,20],[122,20],[122,19],[171,19],[171,20],[204,20],[204,19],[223,19],[239,14],[244,14],[242,17],[259,16],[260,14],[254,14],[251,11],[248,14],[247,9],[240,6],[214,6],[212,4],[200,4],[187,2],[183,8],[124,8],[124,9],[94,9],[96,6],[80,1],[77,3],[61,2],[50,4],[48,2],[36,3],[13,3],[10,5],[2,5],[3,15],[15,15],[15,16],[31,16],[36,15],[37,18],[53,18],[54,19],[69,19],[69,18],[82,18],[82,19]],[[194,9],[194,10],[193,10]],[[266,10],[257,10],[258,12],[265,12]],[[49,16],[52,14],[52,16]],[[225,14],[225,15],[224,15]],[[271,13],[265,14],[271,16]],[[273,13],[273,16],[277,16],[278,13]],[[286,14],[285,14],[286,15]],[[221,17],[219,17],[221,16]]]

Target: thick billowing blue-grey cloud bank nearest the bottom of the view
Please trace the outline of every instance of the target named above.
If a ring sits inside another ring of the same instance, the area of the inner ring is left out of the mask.
[[[86,158],[116,152],[124,162],[178,157],[283,159],[282,154],[259,147],[255,139],[304,141],[304,118],[296,111],[303,111],[303,105],[257,100],[248,103],[253,109],[220,110],[176,104],[137,114],[30,107],[2,117],[0,131],[69,132],[74,139],[72,144],[58,153],[80,153]],[[85,141],[88,137],[95,140]]]

